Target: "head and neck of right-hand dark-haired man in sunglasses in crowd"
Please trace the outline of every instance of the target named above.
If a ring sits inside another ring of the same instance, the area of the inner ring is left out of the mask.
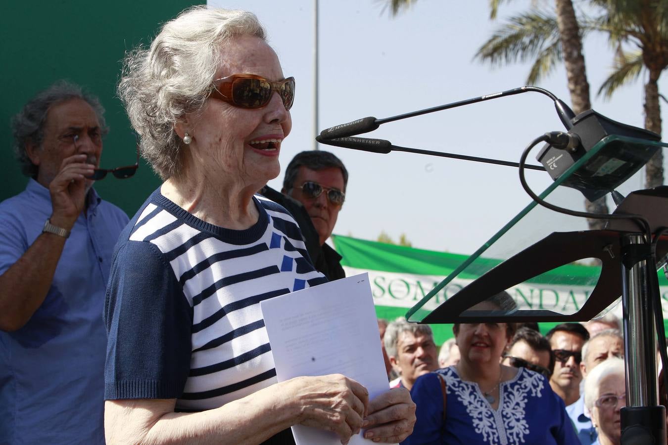
[[[589,340],[589,332],[579,323],[562,323],[554,326],[546,338],[554,354],[550,386],[568,407],[580,398],[582,345]]]

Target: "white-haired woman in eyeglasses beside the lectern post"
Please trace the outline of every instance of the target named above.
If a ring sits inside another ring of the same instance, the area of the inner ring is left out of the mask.
[[[609,358],[587,374],[585,406],[591,413],[591,422],[599,434],[592,445],[619,445],[619,411],[626,406],[624,360]]]

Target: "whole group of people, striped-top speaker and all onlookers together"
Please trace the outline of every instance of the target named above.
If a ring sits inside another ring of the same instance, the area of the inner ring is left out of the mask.
[[[100,101],[59,81],[13,119],[29,181],[0,203],[0,444],[290,444],[301,424],[405,444],[619,444],[619,320],[378,320],[387,392],[277,382],[260,303],[345,277],[327,244],[348,171],[279,153],[285,77],[252,13],[192,7],[124,61],[118,93],[162,179],[130,219],[95,191]],[[486,300],[514,304],[502,292]]]

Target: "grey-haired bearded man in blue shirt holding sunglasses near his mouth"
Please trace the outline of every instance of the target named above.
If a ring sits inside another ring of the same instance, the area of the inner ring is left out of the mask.
[[[104,293],[128,223],[91,177],[104,109],[60,81],[14,117],[25,191],[0,203],[0,443],[104,444]],[[102,173],[101,173],[102,172]]]

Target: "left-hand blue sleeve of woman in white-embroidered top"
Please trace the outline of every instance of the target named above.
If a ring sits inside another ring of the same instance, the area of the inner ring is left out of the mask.
[[[443,429],[443,392],[438,374],[430,372],[415,380],[411,389],[415,402],[413,434],[401,444],[440,444]]]

